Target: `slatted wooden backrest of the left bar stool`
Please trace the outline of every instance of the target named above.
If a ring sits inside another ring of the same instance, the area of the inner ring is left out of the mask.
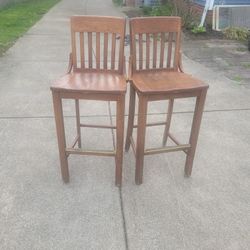
[[[125,19],[71,17],[73,71],[113,71],[124,68]]]

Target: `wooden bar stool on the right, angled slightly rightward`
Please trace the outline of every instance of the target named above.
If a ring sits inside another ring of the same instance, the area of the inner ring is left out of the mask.
[[[191,175],[208,85],[183,73],[180,53],[181,19],[179,17],[146,17],[130,20],[130,103],[125,150],[130,145],[136,156],[135,182],[142,183],[145,155],[184,151],[185,174]],[[134,125],[135,94],[138,95],[138,125]],[[180,144],[169,133],[174,99],[196,97],[196,105],[189,143]],[[169,100],[164,122],[146,124],[150,101]],[[163,147],[145,149],[147,126],[165,125]],[[134,142],[133,128],[137,127]],[[167,138],[176,145],[165,146]]]

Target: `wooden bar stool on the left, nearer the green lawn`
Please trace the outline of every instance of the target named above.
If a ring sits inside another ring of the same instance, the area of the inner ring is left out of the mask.
[[[126,78],[123,76],[125,24],[124,18],[117,17],[71,17],[72,53],[69,69],[51,87],[64,182],[69,182],[68,156],[81,154],[114,156],[115,183],[121,185],[126,93]],[[71,146],[66,146],[62,99],[75,100],[77,136]],[[79,110],[81,99],[116,102],[116,126],[82,124]],[[81,127],[116,129],[114,150],[83,150]]]

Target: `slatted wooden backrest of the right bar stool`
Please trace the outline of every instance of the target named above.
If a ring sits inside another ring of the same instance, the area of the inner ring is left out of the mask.
[[[139,17],[130,20],[132,73],[142,70],[177,71],[180,17]]]

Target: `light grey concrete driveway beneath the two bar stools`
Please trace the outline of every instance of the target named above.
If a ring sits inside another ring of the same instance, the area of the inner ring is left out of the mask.
[[[122,189],[114,160],[102,157],[71,157],[71,181],[62,183],[49,86],[66,70],[74,14],[123,15],[112,0],[62,0],[0,58],[0,249],[249,249],[250,89],[187,57],[186,72],[210,84],[192,177],[183,176],[181,152],[150,156],[136,186],[129,151]],[[171,129],[180,138],[193,105],[176,104]],[[71,138],[73,106],[64,105]],[[149,119],[166,109],[150,105]],[[82,120],[109,122],[108,105],[81,110]],[[148,129],[147,145],[162,133]],[[112,146],[111,131],[84,135],[85,145]]]

